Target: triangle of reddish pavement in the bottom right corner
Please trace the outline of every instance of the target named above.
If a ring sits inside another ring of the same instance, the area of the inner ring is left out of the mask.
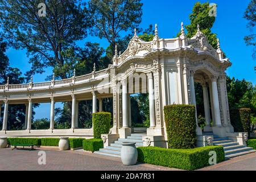
[[[226,160],[200,171],[256,171],[256,152]]]

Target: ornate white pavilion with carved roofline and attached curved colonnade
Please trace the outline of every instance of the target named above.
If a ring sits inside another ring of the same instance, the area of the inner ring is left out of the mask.
[[[241,138],[234,133],[230,124],[228,96],[226,90],[226,69],[232,64],[224,59],[220,48],[214,49],[205,35],[198,30],[187,38],[181,23],[181,35],[174,39],[160,39],[155,26],[155,37],[144,42],[137,36],[130,40],[122,54],[115,51],[113,64],[101,71],[88,75],[74,76],[64,80],[31,82],[28,84],[0,85],[0,104],[4,104],[3,125],[0,135],[7,137],[93,137],[93,129],[78,129],[79,101],[93,100],[93,113],[102,111],[102,99],[113,98],[113,128],[102,135],[108,146],[118,138],[127,138],[135,129],[131,127],[130,94],[149,93],[150,127],[145,131],[144,145],[166,147],[167,134],[163,107],[172,104],[196,105],[195,82],[203,86],[204,111],[207,131],[210,137]],[[208,97],[208,95],[210,97]],[[97,110],[97,100],[99,106]],[[71,129],[54,128],[55,102],[72,101]],[[31,130],[32,103],[51,103],[51,117],[48,130]],[[209,103],[211,106],[209,106]],[[25,129],[7,129],[8,106],[26,105]],[[1,107],[0,107],[1,108]],[[211,109],[210,109],[211,108]],[[211,114],[210,114],[211,113]],[[212,117],[211,117],[212,116]],[[213,126],[210,121],[213,121]],[[209,143],[209,135],[197,126],[197,144]],[[237,139],[239,140],[239,139]],[[243,142],[242,142],[243,143]]]

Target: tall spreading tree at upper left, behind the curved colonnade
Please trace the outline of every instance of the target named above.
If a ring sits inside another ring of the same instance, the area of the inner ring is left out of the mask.
[[[26,73],[43,73],[63,65],[63,52],[85,38],[90,26],[85,3],[80,0],[45,0],[46,16],[38,14],[39,0],[0,0],[0,23],[14,48],[27,49],[32,64]],[[61,78],[66,78],[62,73]]]

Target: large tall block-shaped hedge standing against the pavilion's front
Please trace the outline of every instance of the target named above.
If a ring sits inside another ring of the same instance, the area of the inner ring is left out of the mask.
[[[196,108],[193,105],[164,107],[169,148],[196,147]]]

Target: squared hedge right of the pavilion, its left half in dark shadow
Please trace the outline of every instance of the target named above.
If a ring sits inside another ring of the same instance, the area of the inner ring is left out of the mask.
[[[249,108],[230,110],[230,120],[235,132],[250,133],[251,110]]]

